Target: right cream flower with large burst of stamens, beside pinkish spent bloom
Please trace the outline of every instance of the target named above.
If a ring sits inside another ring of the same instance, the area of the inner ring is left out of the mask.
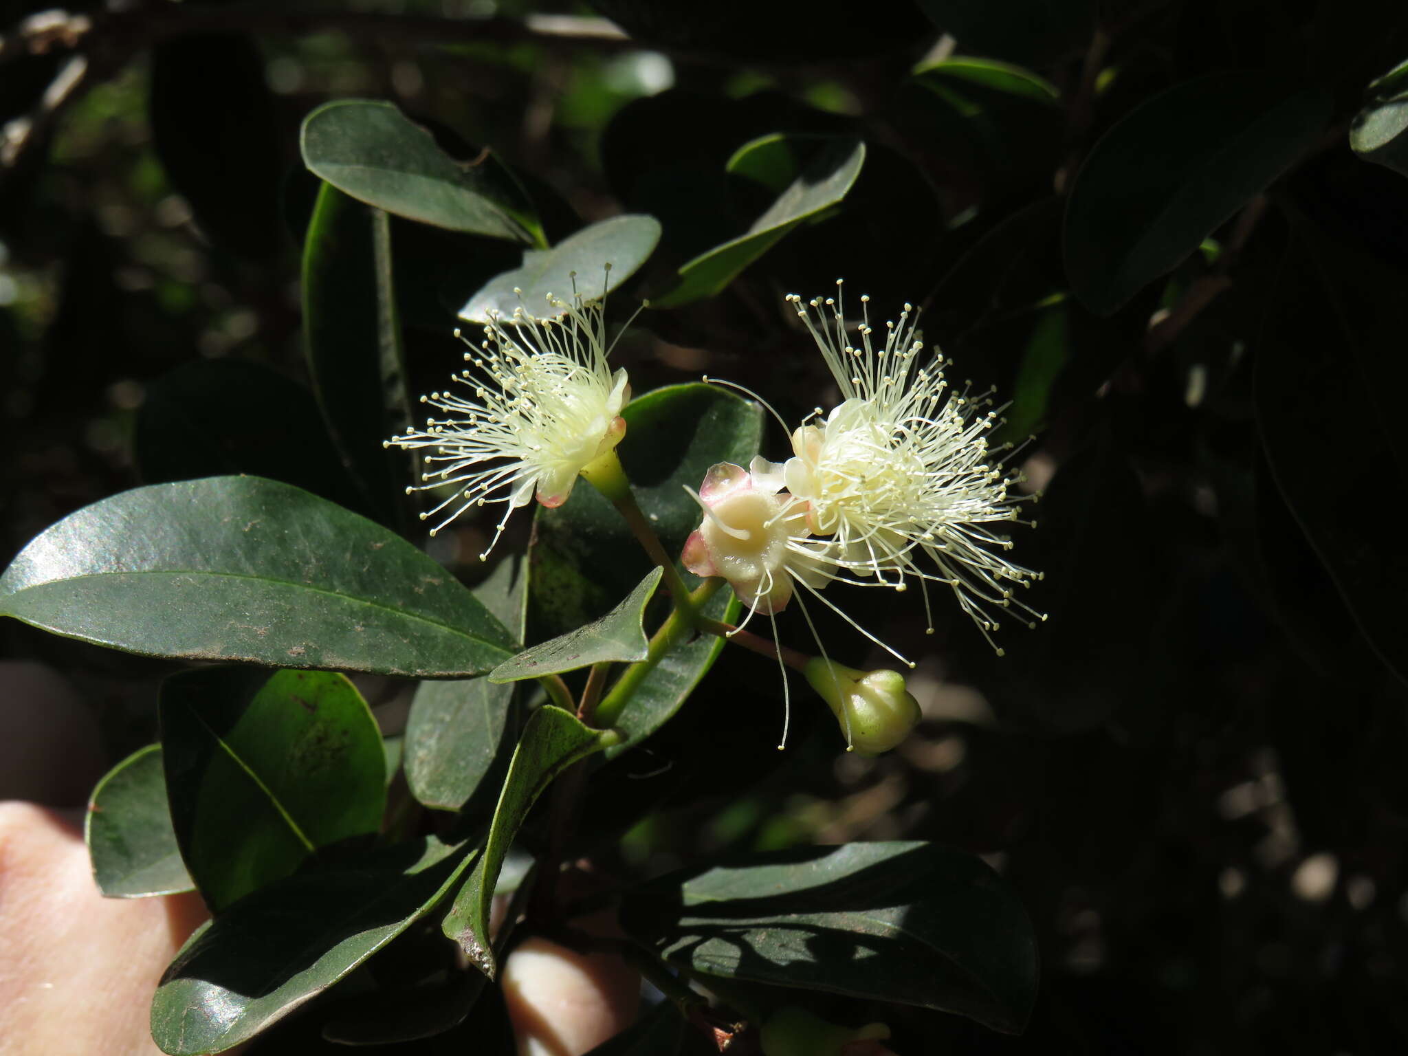
[[[1017,520],[1022,498],[1010,496],[1015,477],[988,445],[991,400],[949,389],[943,358],[925,358],[908,304],[876,348],[870,298],[862,297],[860,346],[852,345],[839,286],[835,298],[787,298],[842,397],[825,420],[793,434],[783,466],[787,490],[805,503],[807,527],[831,542],[817,549],[818,560],[832,579],[865,586],[946,584],[988,642],[998,610],[1015,604],[1045,620],[1012,594],[1039,573],[1010,562],[1011,539],[990,527]]]

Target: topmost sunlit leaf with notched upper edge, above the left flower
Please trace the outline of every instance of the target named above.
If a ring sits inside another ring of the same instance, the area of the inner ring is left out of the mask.
[[[391,103],[342,99],[303,121],[303,163],[338,190],[451,231],[546,245],[532,203],[489,151],[455,159]]]

